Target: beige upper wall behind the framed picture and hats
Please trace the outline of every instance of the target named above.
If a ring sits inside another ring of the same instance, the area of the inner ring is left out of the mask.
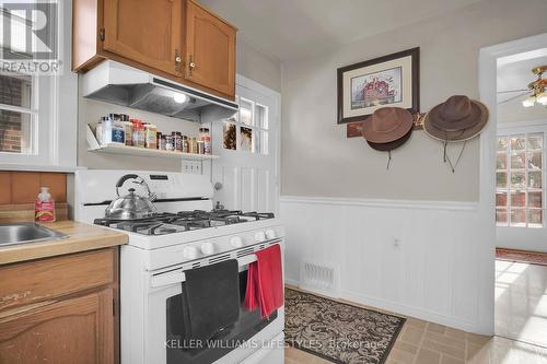
[[[336,125],[336,69],[419,46],[420,103],[428,110],[453,94],[478,97],[481,47],[547,32],[547,1],[485,0],[455,13],[364,38],[337,51],[283,64],[281,193],[475,201],[479,141],[467,143],[455,174],[423,131],[387,155]],[[457,154],[452,150],[451,154]]]

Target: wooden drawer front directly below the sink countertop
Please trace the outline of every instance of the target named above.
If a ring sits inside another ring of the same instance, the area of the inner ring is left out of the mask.
[[[0,267],[0,310],[114,282],[116,249]]]

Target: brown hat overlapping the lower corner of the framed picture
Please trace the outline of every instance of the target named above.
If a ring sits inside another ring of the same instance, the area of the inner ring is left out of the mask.
[[[369,144],[392,143],[406,137],[412,124],[410,111],[400,107],[381,107],[364,120],[361,133]]]

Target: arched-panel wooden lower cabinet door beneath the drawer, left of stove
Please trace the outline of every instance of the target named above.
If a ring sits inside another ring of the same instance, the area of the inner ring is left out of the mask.
[[[113,291],[0,318],[0,363],[114,363]]]

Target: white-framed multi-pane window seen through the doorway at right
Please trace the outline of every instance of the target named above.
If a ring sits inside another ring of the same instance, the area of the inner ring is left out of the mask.
[[[496,223],[544,226],[544,131],[498,136]]]

